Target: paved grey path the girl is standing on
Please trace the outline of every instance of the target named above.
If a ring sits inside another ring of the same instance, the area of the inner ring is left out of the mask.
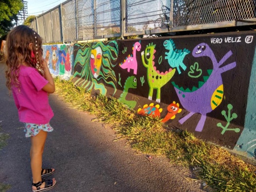
[[[166,158],[137,153],[124,140],[87,112],[72,109],[57,94],[50,96],[55,116],[54,131],[48,135],[44,167],[54,167],[57,185],[50,191],[74,192],[202,192],[200,183],[188,182],[191,173],[172,165]],[[11,184],[8,191],[31,191],[30,139],[5,87],[4,65],[0,63],[0,125],[10,135],[0,151],[0,183]]]

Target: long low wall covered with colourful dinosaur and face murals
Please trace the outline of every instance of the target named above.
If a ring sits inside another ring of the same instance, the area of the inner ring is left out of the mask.
[[[112,95],[141,115],[160,116],[171,127],[253,159],[255,39],[250,31],[44,49],[54,75],[73,75],[75,84],[92,94]]]

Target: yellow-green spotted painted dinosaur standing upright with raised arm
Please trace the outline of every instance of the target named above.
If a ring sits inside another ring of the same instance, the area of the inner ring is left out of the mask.
[[[152,100],[153,90],[157,90],[156,102],[160,102],[161,87],[163,87],[175,74],[176,69],[170,68],[168,71],[161,72],[155,67],[155,50],[156,45],[148,44],[144,51],[141,52],[142,63],[145,68],[147,68],[147,82],[150,87],[148,93],[148,99]]]

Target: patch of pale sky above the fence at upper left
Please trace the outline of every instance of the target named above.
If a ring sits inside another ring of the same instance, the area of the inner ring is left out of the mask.
[[[42,14],[66,0],[25,0],[28,2],[28,15]]]

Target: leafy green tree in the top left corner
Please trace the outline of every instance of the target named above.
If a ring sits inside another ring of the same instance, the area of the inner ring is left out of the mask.
[[[0,36],[8,33],[14,26],[13,20],[17,19],[16,14],[23,8],[21,0],[0,1]]]

